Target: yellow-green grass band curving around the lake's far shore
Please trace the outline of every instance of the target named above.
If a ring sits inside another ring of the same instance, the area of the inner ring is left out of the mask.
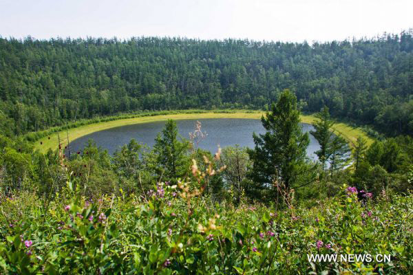
[[[165,120],[186,120],[186,119],[205,119],[205,118],[250,118],[250,119],[260,119],[264,114],[263,111],[243,111],[238,110],[234,112],[224,112],[220,113],[218,111],[211,111],[206,113],[173,113],[169,115],[153,115],[153,116],[143,116],[138,118],[125,118],[119,120],[111,120],[108,122],[98,122],[94,124],[88,124],[84,126],[79,126],[76,128],[68,129],[67,131],[59,131],[43,137],[37,140],[34,144],[34,148],[39,149],[39,151],[45,153],[49,148],[54,150],[59,145],[59,139],[61,144],[67,144],[67,135],[69,140],[73,141],[84,135],[94,133],[96,131],[102,131],[105,129],[110,129],[119,126],[125,126],[130,124],[148,123],[156,121]],[[312,124],[315,121],[313,115],[301,115],[301,122]],[[372,143],[372,139],[366,135],[361,129],[354,128],[344,123],[337,123],[334,127],[335,133],[341,134],[350,144],[357,140],[359,135],[366,138],[368,145]]]

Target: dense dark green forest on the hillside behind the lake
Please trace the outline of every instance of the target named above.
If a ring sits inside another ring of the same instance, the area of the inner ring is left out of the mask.
[[[412,30],[328,43],[0,39],[0,129],[143,110],[268,109],[284,89],[302,111],[413,133]]]

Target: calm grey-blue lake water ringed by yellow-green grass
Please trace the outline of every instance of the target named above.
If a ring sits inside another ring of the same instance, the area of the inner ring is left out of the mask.
[[[189,132],[195,130],[196,122],[197,120],[176,120],[180,135],[189,138]],[[199,147],[207,149],[212,153],[217,151],[218,145],[221,148],[234,146],[235,144],[254,148],[253,132],[265,132],[261,120],[209,118],[202,119],[200,122],[202,122],[202,132],[206,131],[207,137],[199,143]],[[149,122],[98,131],[70,142],[70,148],[72,152],[81,151],[89,139],[93,139],[97,146],[106,148],[111,155],[116,149],[127,144],[132,138],[148,146],[153,146],[156,135],[162,131],[164,126],[165,121]],[[314,129],[310,124],[301,124],[301,126],[305,132]],[[308,156],[312,159],[317,159],[317,155],[314,152],[318,149],[319,143],[313,135],[310,135],[310,145],[307,149]]]

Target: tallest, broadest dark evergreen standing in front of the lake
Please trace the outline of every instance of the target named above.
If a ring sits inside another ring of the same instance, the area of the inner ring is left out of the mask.
[[[299,125],[297,98],[286,90],[277,104],[272,104],[271,112],[261,118],[266,133],[253,134],[255,148],[248,149],[253,161],[249,177],[258,184],[255,195],[261,194],[274,198],[274,184],[282,184],[286,190],[298,184],[305,172],[306,148],[310,143],[308,133],[302,133]]]

